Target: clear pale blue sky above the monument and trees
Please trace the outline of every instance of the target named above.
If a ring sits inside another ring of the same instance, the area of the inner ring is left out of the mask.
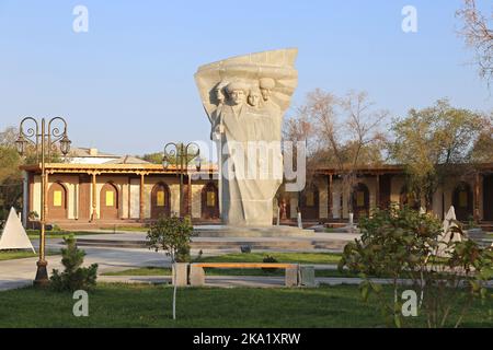
[[[89,10],[88,33],[72,30],[78,4]],[[417,33],[401,30],[408,4],[417,9]],[[0,0],[0,129],[23,116],[65,116],[74,144],[119,154],[207,140],[197,67],[285,47],[299,49],[293,105],[321,88],[368,91],[394,116],[440,97],[491,110],[493,96],[457,36],[460,4]]]

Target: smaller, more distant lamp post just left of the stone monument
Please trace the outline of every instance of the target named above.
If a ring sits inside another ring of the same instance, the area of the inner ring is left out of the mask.
[[[195,148],[196,151],[191,152],[191,148]],[[174,160],[176,164],[176,175],[180,175],[180,217],[182,218],[184,215],[184,208],[183,208],[183,177],[185,174],[188,173],[188,162],[195,159],[195,166],[197,168],[197,172],[200,171],[200,149],[198,148],[198,144],[195,142],[191,142],[188,144],[184,144],[182,142],[174,143],[169,142],[167,145],[164,145],[164,156],[162,159],[162,166],[164,170],[168,170],[170,166],[170,163]],[[191,185],[191,179],[188,176],[188,188]],[[190,200],[188,200],[190,202]]]

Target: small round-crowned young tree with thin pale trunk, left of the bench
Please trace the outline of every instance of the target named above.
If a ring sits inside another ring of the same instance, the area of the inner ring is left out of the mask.
[[[190,261],[190,242],[193,236],[193,226],[190,217],[161,217],[151,225],[147,241],[150,249],[163,250],[171,257],[176,281],[176,262]],[[173,290],[173,319],[176,319],[176,283]]]

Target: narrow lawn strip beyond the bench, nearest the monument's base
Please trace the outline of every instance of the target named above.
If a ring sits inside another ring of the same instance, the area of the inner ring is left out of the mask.
[[[200,262],[262,262],[266,256],[276,258],[279,262],[294,264],[337,264],[341,254],[336,253],[249,253],[226,254],[203,257]]]

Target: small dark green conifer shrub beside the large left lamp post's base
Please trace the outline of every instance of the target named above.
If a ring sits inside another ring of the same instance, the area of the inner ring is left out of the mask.
[[[54,269],[50,278],[50,287],[55,291],[77,291],[88,290],[96,284],[98,264],[89,268],[81,267],[85,253],[76,245],[76,238],[70,235],[64,237],[67,248],[61,249],[61,264],[65,267],[64,272]]]

